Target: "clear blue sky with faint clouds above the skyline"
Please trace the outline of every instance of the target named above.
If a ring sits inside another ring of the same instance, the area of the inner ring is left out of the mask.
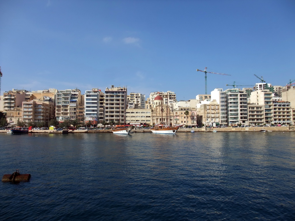
[[[0,0],[1,95],[127,86],[174,91],[286,85],[295,75],[295,1]]]

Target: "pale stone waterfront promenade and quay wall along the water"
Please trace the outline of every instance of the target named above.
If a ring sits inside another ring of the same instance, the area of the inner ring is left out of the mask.
[[[179,128],[177,133],[185,133],[191,132],[212,132],[214,129],[217,132],[260,132],[260,130],[267,131],[295,131],[295,126],[287,126],[287,127],[226,127],[226,128]],[[132,129],[134,133],[149,133],[151,132],[149,129]],[[1,130],[0,133],[6,133],[7,131]],[[112,133],[112,130],[74,130],[69,131],[70,133]],[[30,130],[29,133],[60,133],[61,131],[56,130]]]

